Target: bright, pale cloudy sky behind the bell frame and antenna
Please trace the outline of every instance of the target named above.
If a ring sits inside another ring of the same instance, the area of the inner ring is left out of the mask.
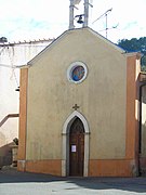
[[[146,0],[91,1],[89,26],[101,35],[106,36],[106,18],[93,22],[112,8],[107,17],[107,27],[111,28],[107,31],[109,40],[146,37]],[[82,13],[82,3],[83,0],[76,14]],[[68,29],[69,0],[0,0],[0,37],[6,37],[10,42],[56,38]]]

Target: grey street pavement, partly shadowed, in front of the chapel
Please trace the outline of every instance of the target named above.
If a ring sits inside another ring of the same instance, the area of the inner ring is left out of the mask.
[[[146,194],[146,178],[61,178],[0,170],[0,195]]]

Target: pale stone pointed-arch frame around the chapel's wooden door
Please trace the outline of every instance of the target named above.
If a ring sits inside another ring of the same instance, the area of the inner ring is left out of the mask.
[[[84,127],[84,168],[83,177],[88,177],[89,171],[89,134],[90,129],[87,119],[79,112],[75,110],[65,121],[63,127],[63,143],[62,143],[62,176],[69,174],[69,131],[76,118],[79,118]]]

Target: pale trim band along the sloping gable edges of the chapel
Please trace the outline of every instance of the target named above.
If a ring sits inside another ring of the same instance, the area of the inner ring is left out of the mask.
[[[61,36],[58,36],[56,39],[54,39],[54,41],[52,41],[47,48],[44,48],[40,53],[38,53],[32,60],[30,60],[27,65],[25,66],[31,66],[38,58],[41,57],[41,55],[48,51],[49,49],[51,49],[52,47],[54,47],[59,40],[64,39],[64,37],[66,37],[67,35],[69,35],[70,31],[77,31],[77,30],[88,30],[91,32],[91,35],[97,37],[98,39],[101,39],[102,41],[106,42],[107,44],[109,44],[110,47],[115,48],[117,51],[119,51],[120,53],[127,53],[125,50],[123,50],[122,48],[118,47],[117,44],[115,44],[114,42],[111,42],[110,40],[106,39],[105,37],[103,37],[102,35],[99,35],[98,32],[96,32],[95,30],[93,30],[90,27],[83,27],[83,28],[75,28],[75,29],[69,29],[64,31]]]

